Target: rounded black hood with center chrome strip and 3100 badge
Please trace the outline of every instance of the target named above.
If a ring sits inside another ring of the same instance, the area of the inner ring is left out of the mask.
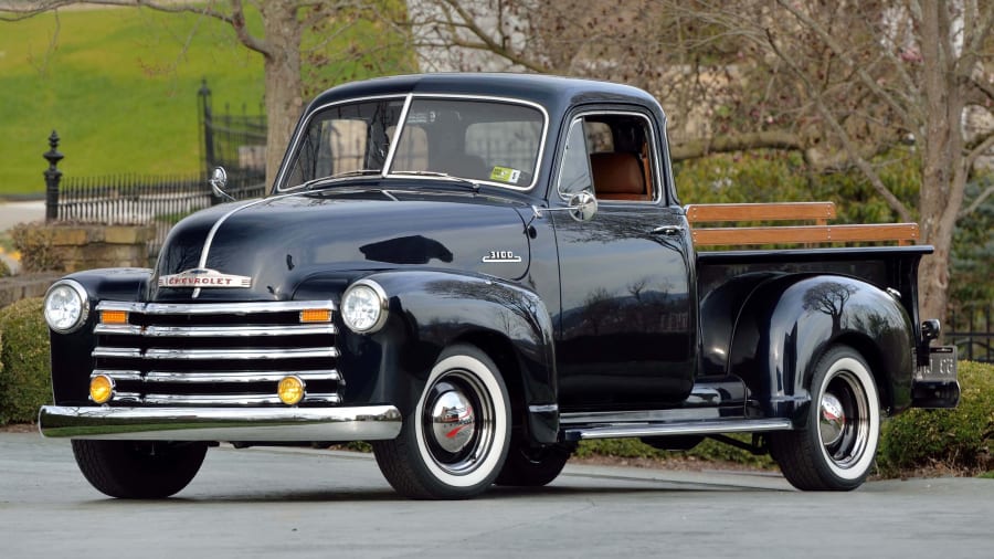
[[[525,223],[507,200],[308,192],[219,205],[179,222],[159,255],[150,299],[187,300],[201,286],[198,300],[284,300],[318,275],[398,267],[517,280],[528,265]]]

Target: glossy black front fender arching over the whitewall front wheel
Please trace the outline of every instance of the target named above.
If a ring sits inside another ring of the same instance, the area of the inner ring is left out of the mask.
[[[507,354],[518,375],[529,433],[537,442],[556,442],[559,431],[553,327],[541,298],[519,285],[487,276],[441,271],[393,271],[364,277],[389,298],[389,318],[370,336],[381,354],[382,379],[373,398],[414,408],[440,354],[456,341]],[[347,345],[362,336],[343,331]],[[501,356],[493,356],[500,363]],[[345,367],[346,363],[342,363]],[[507,372],[505,372],[507,375]],[[400,378],[401,376],[406,378]]]

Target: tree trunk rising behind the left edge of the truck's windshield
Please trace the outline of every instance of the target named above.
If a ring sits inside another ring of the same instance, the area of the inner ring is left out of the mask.
[[[302,23],[297,2],[260,3],[266,36],[266,183],[272,186],[283,161],[290,133],[300,116],[304,86],[300,80]]]

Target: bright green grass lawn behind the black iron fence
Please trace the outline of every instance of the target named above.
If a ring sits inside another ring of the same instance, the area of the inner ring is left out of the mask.
[[[261,28],[251,14],[250,27]],[[382,43],[382,30],[370,27],[336,34],[327,49]],[[362,77],[413,68],[410,55],[388,56],[366,68],[331,54],[310,75],[327,82],[336,72]],[[260,112],[262,56],[210,18],[124,8],[0,22],[0,197],[44,191],[42,154],[53,129],[66,176],[197,172],[203,77],[215,113],[225,104]]]

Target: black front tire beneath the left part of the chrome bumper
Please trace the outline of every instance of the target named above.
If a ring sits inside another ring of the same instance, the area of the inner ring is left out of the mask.
[[[124,499],[160,499],[197,475],[207,443],[73,441],[83,476],[101,493]]]

